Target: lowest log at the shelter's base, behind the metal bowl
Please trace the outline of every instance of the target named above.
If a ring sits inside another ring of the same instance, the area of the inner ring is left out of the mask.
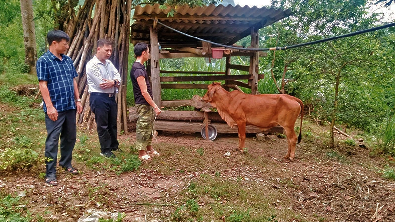
[[[170,131],[170,132],[201,132],[204,127],[203,122],[184,122],[184,121],[167,121],[167,120],[156,120],[156,130]],[[226,123],[210,123],[217,129],[217,133],[238,133],[237,126],[231,128]],[[269,130],[262,131],[255,126],[247,126],[246,133],[284,133],[281,126],[273,127]]]

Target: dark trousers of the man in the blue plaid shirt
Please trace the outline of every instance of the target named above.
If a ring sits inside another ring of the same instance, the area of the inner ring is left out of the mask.
[[[56,121],[52,121],[45,113],[45,126],[48,133],[45,141],[46,176],[56,176],[59,137],[59,166],[71,167],[72,152],[76,144],[76,110],[58,112]]]

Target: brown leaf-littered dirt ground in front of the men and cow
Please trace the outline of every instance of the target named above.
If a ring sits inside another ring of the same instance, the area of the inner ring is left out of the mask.
[[[119,140],[133,142],[133,138],[132,133]],[[125,213],[124,222],[158,222],[163,218],[170,221],[174,207],[166,204],[175,204],[177,193],[191,181],[202,174],[220,172],[223,180],[241,178],[246,187],[259,184],[281,193],[289,201],[277,200],[272,206],[305,217],[278,221],[394,222],[395,182],[384,179],[380,173],[389,162],[370,157],[368,149],[358,146],[338,147],[334,151],[344,158],[328,158],[333,150],[318,148],[318,140],[302,139],[295,161],[287,162],[282,158],[286,154],[286,139],[276,135],[263,141],[248,135],[248,152],[240,154],[235,150],[235,134],[219,134],[214,141],[204,141],[200,134],[164,132],[154,140],[162,156],[144,163],[137,171],[116,175],[78,164],[78,176],[59,171],[59,186],[48,187],[38,175],[24,172],[3,175],[0,187],[9,193],[26,195],[26,207],[34,214],[44,215],[45,221],[72,222],[87,210],[101,210]],[[183,162],[180,146],[194,155],[202,149],[204,164]],[[227,152],[229,156],[224,155]],[[163,173],[168,166],[174,173]],[[265,198],[264,193],[261,195]]]

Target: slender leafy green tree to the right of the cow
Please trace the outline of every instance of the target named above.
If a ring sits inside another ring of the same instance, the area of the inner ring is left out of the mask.
[[[263,37],[271,45],[264,47],[273,47],[277,38],[278,46],[288,46],[338,36],[370,28],[377,21],[374,17],[364,16],[367,14],[366,2],[360,0],[272,2],[273,6],[290,5],[289,9],[295,13],[266,29],[271,32]],[[273,35],[274,31],[276,35]],[[276,55],[273,69],[276,79],[280,79],[286,68],[285,78],[292,80],[286,85],[286,91],[304,97],[302,100],[308,105],[314,104],[319,119],[329,121],[332,148],[335,124],[368,128],[373,126],[372,122],[380,121],[383,112],[387,111],[386,106],[379,108],[382,103],[376,100],[380,95],[373,90],[374,84],[385,80],[375,77],[377,72],[388,76],[386,71],[389,71],[383,66],[386,61],[377,53],[381,48],[378,37],[382,35],[382,32],[376,32],[347,37],[276,52],[266,58],[270,64]]]

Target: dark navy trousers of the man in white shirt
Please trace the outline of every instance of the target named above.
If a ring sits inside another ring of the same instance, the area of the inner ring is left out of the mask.
[[[117,140],[117,103],[114,96],[107,93],[91,93],[89,105],[95,114],[100,150],[106,153],[118,149]]]

